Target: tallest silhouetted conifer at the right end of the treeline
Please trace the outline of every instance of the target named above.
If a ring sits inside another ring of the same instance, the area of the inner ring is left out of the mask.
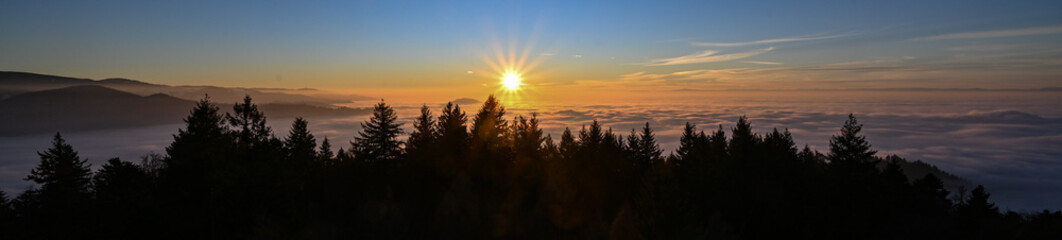
[[[829,160],[832,169],[854,174],[877,170],[875,167],[877,161],[874,160],[877,151],[871,150],[870,142],[867,142],[866,136],[860,135],[860,131],[862,124],[856,121],[854,115],[849,114],[849,120],[844,121],[841,134],[829,139],[829,154],[826,155],[826,159]]]

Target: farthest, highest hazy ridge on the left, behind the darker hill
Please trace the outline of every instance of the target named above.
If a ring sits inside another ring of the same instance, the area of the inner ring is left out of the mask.
[[[0,99],[12,98],[16,95],[25,92],[83,85],[104,86],[141,96],[165,93],[178,99],[191,101],[200,100],[204,96],[210,96],[211,101],[221,103],[236,103],[241,101],[244,96],[251,96],[256,102],[259,103],[286,102],[322,106],[329,106],[336,103],[349,103],[352,101],[375,100],[375,98],[363,96],[339,95],[315,89],[169,86],[129,79],[105,79],[95,81],[90,79],[76,79],[31,72],[0,71]]]

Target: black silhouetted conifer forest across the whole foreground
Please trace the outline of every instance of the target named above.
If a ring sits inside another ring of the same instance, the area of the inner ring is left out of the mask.
[[[687,123],[665,153],[649,123],[594,121],[554,139],[493,96],[469,114],[425,105],[405,133],[381,100],[332,152],[302,118],[277,136],[251,97],[227,113],[207,98],[165,154],[95,172],[57,133],[25,176],[35,187],[0,191],[0,237],[1062,239],[1062,211],[1000,210],[981,186],[910,181],[852,115],[824,153],[743,117]]]

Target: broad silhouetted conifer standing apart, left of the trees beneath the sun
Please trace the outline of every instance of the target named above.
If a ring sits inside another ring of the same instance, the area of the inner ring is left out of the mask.
[[[373,117],[361,123],[361,132],[350,142],[355,159],[367,164],[394,164],[393,160],[401,155],[398,135],[402,130],[397,120],[395,110],[380,100],[373,107]]]

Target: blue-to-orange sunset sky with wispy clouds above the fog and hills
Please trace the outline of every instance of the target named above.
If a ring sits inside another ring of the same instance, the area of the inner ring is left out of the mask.
[[[532,97],[1062,87],[1057,0],[0,5],[2,70],[170,85],[482,97],[514,56]]]

